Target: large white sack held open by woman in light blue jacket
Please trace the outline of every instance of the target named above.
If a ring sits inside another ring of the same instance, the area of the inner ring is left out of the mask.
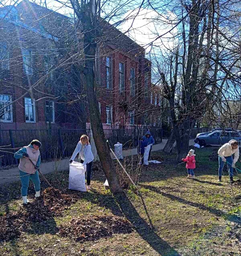
[[[86,165],[75,161],[69,164],[69,189],[86,191],[85,173]]]

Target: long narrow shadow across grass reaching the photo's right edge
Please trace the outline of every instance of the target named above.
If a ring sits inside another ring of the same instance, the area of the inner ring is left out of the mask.
[[[141,185],[141,186],[145,187],[146,189],[150,189],[151,191],[153,191],[157,194],[160,194],[161,196],[165,196],[165,197],[170,198],[174,201],[178,201],[182,204],[188,204],[189,206],[193,206],[193,207],[199,208],[201,210],[209,211],[209,212],[215,214],[216,216],[220,216],[220,217],[223,216],[225,219],[227,219],[229,221],[233,221],[233,222],[236,222],[236,223],[241,223],[241,219],[237,215],[227,214],[226,212],[223,212],[222,210],[213,209],[213,208],[207,207],[203,204],[191,202],[191,201],[188,201],[186,199],[180,198],[178,196],[174,196],[172,194],[165,193],[165,192],[163,192],[163,191],[159,190],[158,188],[156,188],[154,186],[151,186],[151,185]]]

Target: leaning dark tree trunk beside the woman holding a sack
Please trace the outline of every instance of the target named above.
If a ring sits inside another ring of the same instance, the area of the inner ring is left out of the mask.
[[[96,79],[94,73],[96,43],[94,42],[94,29],[90,26],[90,15],[85,15],[82,21],[86,30],[86,32],[84,33],[84,75],[86,79],[86,92],[88,98],[88,108],[90,112],[90,124],[92,128],[93,138],[96,145],[96,150],[98,152],[98,156],[100,158],[100,162],[102,164],[104,173],[110,186],[110,190],[112,191],[112,193],[119,193],[122,191],[122,189],[120,187],[118,175],[116,174],[116,171],[112,164],[108,145],[105,141],[104,130],[100,119],[100,112],[98,110],[98,101],[96,97]]]

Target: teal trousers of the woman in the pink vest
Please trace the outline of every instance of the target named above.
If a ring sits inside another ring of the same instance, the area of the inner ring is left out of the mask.
[[[28,194],[29,179],[31,179],[31,181],[33,181],[35,191],[36,192],[40,191],[40,179],[39,179],[38,171],[36,171],[33,174],[28,175],[28,173],[25,173],[25,172],[19,170],[19,176],[20,176],[20,180],[21,180],[21,184],[22,184],[22,187],[21,187],[22,196],[27,196],[27,194]]]

